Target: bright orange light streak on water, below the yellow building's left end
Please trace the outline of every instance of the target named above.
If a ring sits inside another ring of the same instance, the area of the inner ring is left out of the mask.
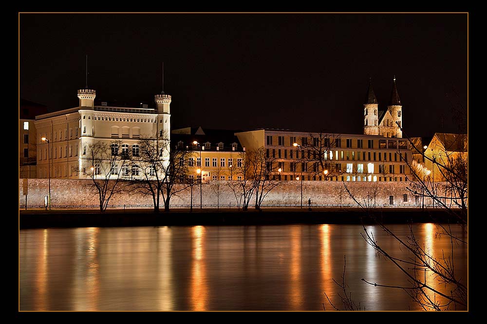
[[[191,260],[190,305],[192,310],[206,310],[208,287],[205,264],[205,227],[191,228],[193,255]]]

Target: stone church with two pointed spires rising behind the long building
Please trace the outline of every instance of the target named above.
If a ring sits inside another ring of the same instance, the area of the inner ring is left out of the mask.
[[[395,76],[389,104],[383,111],[378,110],[371,80],[364,103],[364,135],[402,138],[402,131],[399,127],[402,127],[402,104],[397,92]]]

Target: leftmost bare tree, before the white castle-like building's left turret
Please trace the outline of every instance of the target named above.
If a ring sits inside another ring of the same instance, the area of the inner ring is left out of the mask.
[[[119,151],[120,141],[97,141],[87,146],[83,166],[78,172],[92,179],[91,186],[98,193],[100,211],[107,209],[112,196],[122,191],[120,174],[129,161]]]

